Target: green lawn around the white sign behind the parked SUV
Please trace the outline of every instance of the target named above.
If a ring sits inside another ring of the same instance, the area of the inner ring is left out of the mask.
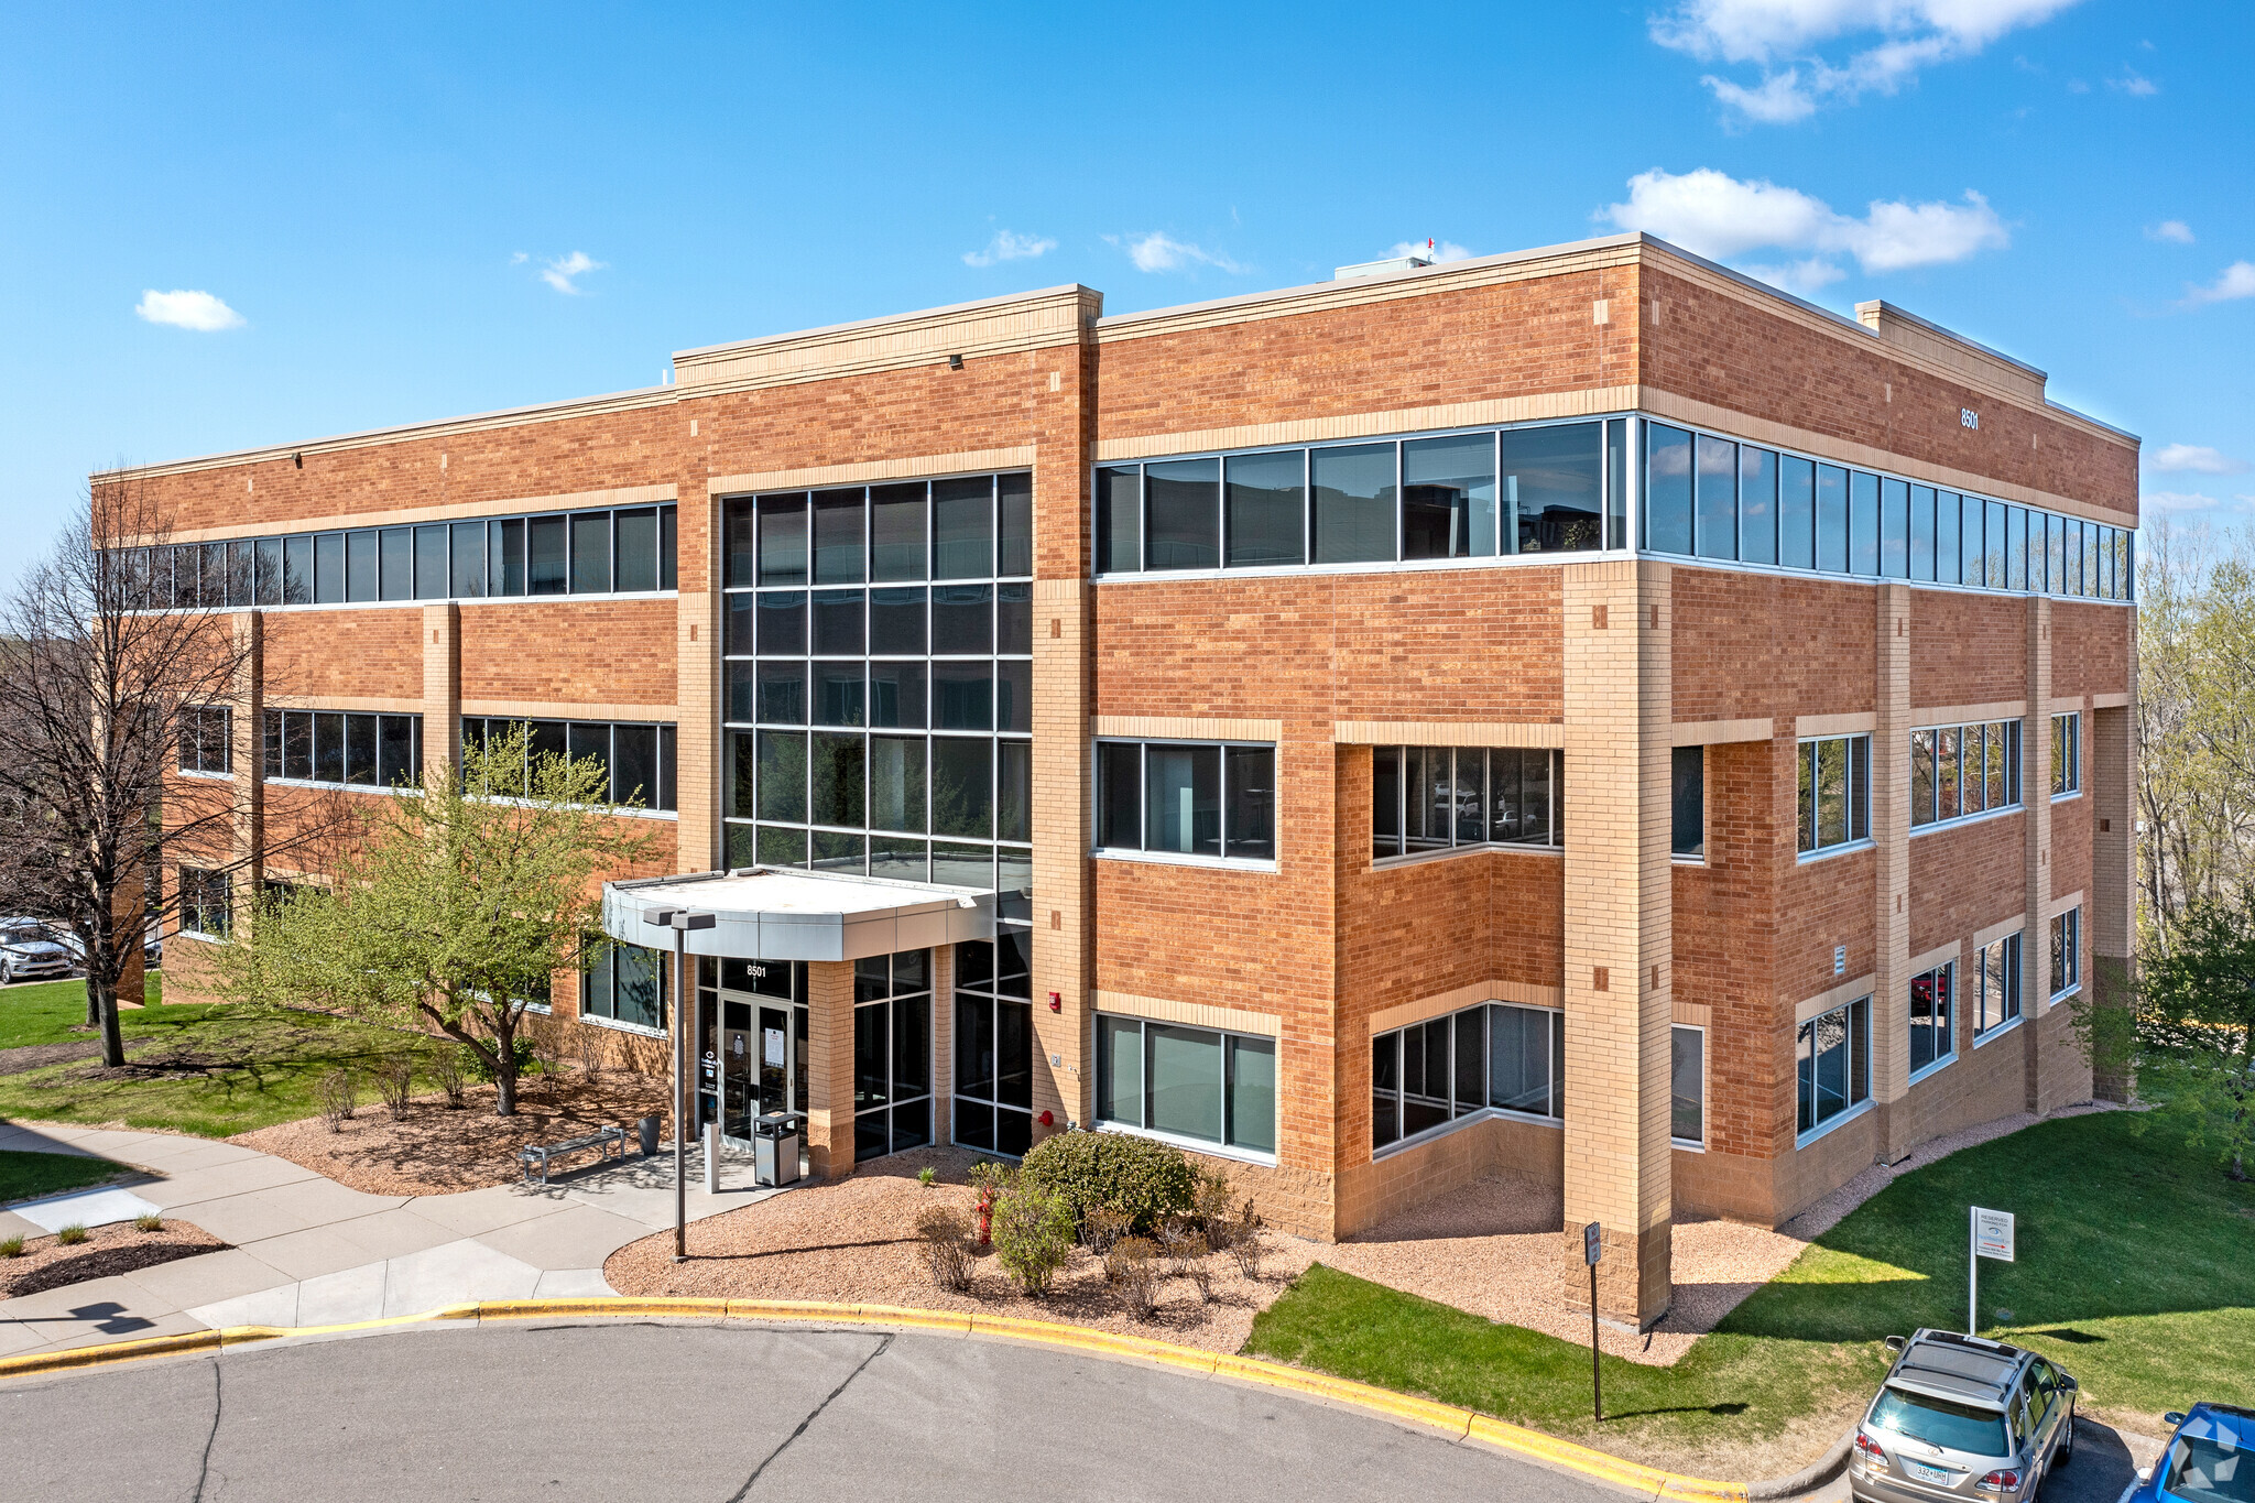
[[[2131,1127],[2041,1122],[1905,1174],[1673,1368],[1603,1359],[1601,1429],[1588,1348],[1321,1264],[1261,1314],[1247,1352],[1619,1451],[1754,1444],[1867,1393],[1883,1336],[1964,1323],[1978,1201],[2016,1215],[2020,1255],[1982,1264],[1984,1334],[2054,1357],[2088,1408],[2160,1433],[2163,1411],[2199,1397],[2255,1404],[2255,1185]]]

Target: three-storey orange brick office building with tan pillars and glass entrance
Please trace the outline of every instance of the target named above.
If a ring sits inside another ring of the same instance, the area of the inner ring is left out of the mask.
[[[1858,313],[1630,234],[147,466],[262,647],[187,926],[530,719],[672,834],[611,931],[724,915],[731,1133],[1146,1131],[1324,1237],[1511,1165],[1657,1318],[1678,1210],[2088,1097],[2131,955],[2138,444]],[[555,1014],[661,1039],[652,960]]]

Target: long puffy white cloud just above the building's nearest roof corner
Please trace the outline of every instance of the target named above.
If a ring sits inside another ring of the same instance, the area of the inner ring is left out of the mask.
[[[2005,221],[1971,189],[1964,203],[1872,201],[1865,216],[1854,219],[1799,189],[1741,183],[1714,167],[1637,174],[1628,180],[1628,203],[1608,205],[1603,216],[1718,261],[1763,248],[1799,252],[1790,266],[1745,268],[1795,291],[1838,282],[1845,273],[1836,255],[1856,257],[1867,273],[1885,273],[1964,261],[2011,243]]]

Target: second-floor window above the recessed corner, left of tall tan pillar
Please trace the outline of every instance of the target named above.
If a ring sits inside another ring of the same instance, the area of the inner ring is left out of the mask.
[[[1371,859],[1563,841],[1565,753],[1515,746],[1373,746]]]

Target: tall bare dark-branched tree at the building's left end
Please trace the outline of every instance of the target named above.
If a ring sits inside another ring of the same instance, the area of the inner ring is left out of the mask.
[[[259,728],[226,712],[255,669],[248,617],[226,604],[248,599],[230,581],[244,550],[174,550],[169,536],[147,487],[97,475],[0,597],[0,883],[77,931],[86,1021],[110,1066],[124,1064],[117,987],[140,973],[144,919],[180,910],[178,888],[149,890],[149,879],[169,856],[192,856],[235,883],[271,854],[259,841],[246,850],[239,782],[178,775],[216,757],[212,737],[228,737],[228,762],[257,753]],[[174,588],[176,552],[185,588]],[[322,825],[298,820],[293,838]]]

